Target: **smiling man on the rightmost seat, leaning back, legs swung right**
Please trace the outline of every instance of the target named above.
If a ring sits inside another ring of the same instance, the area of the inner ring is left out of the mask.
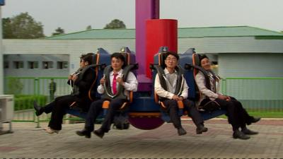
[[[243,108],[241,102],[229,95],[222,95],[219,93],[220,78],[212,71],[209,58],[203,54],[200,57],[200,66],[207,73],[209,79],[206,81],[204,73],[199,71],[195,76],[197,87],[199,88],[202,96],[200,98],[200,106],[207,105],[207,107],[214,104],[219,105],[221,110],[227,111],[229,124],[232,125],[234,139],[250,139],[249,135],[258,134],[257,131],[251,131],[246,125],[260,121],[259,117],[252,117]],[[209,88],[207,88],[207,83]],[[241,131],[239,128],[241,127]]]

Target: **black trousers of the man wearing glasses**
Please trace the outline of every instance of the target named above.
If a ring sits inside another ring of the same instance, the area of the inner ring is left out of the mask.
[[[176,100],[169,100],[169,99],[163,100],[162,102],[166,106],[166,112],[169,113],[169,116],[175,128],[179,129],[180,127],[182,127],[180,116],[178,114],[179,111],[178,102]],[[192,117],[192,122],[194,122],[196,126],[203,124],[203,119],[200,115],[200,112],[198,112],[197,108],[195,107],[195,103],[185,99],[183,100],[183,104],[184,104],[184,110],[187,110],[189,112],[189,116]]]

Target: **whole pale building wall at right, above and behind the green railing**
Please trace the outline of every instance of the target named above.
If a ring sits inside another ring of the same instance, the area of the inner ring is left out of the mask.
[[[282,110],[283,54],[219,54],[223,93],[255,110]],[[225,80],[225,81],[224,81]]]

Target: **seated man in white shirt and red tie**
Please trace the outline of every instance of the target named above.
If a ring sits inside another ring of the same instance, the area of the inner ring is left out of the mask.
[[[103,138],[105,132],[110,130],[115,112],[120,109],[124,102],[129,100],[129,91],[137,91],[138,82],[136,76],[134,76],[134,73],[129,71],[127,77],[123,76],[123,74],[125,74],[122,69],[124,64],[125,57],[122,54],[114,53],[111,55],[112,71],[110,71],[108,74],[105,74],[105,76],[107,76],[106,78],[103,77],[100,79],[100,86],[97,88],[98,93],[103,94],[102,99],[91,104],[86,116],[86,124],[84,129],[81,131],[76,131],[76,134],[79,136],[91,138],[91,131],[94,130],[94,122],[96,121],[96,118],[100,112],[103,110],[103,102],[105,100],[109,100],[108,98],[104,98],[105,95],[108,94],[108,90],[110,90],[112,92],[111,94],[114,96],[112,99],[110,99],[110,107],[104,118],[102,126],[100,129],[93,132],[100,138]],[[121,94],[119,95],[119,93]]]

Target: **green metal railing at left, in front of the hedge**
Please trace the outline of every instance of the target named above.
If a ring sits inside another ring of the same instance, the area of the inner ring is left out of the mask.
[[[51,79],[56,83],[55,97],[71,92],[70,86],[67,85],[67,78],[62,77],[6,77],[4,79],[5,94],[15,94],[13,121],[37,122],[37,126],[40,126],[41,121],[50,119],[50,114],[43,113],[40,117],[35,116],[33,101],[36,100],[39,105],[43,106],[53,100],[49,88]]]

